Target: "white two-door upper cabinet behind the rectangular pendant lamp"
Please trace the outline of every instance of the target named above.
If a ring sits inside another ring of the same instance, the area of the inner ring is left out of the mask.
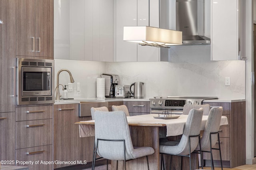
[[[115,2],[116,61],[163,61],[160,53],[163,54],[162,56],[165,54],[168,60],[168,49],[123,41],[124,26],[160,27],[160,0],[116,0]]]

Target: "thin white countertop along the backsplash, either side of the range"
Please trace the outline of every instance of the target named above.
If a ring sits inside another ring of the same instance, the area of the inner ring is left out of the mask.
[[[96,99],[96,98],[89,98],[89,99],[61,99],[56,100],[54,105],[62,105],[62,104],[74,104],[74,103],[80,103],[80,102],[112,102],[112,101],[149,101],[151,98],[144,98],[144,99],[131,99],[131,98],[105,98],[105,99]],[[210,100],[204,100],[204,102],[209,103],[233,103],[233,102],[241,102],[246,101],[246,99],[210,99]]]

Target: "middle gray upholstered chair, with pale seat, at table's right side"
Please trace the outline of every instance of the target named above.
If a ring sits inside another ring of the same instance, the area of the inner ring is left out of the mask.
[[[163,155],[176,155],[187,156],[190,160],[191,170],[191,153],[196,149],[198,143],[200,144],[200,129],[202,123],[203,109],[191,109],[188,114],[188,118],[184,127],[182,137],[179,142],[161,141],[159,146],[159,152],[161,154],[161,169],[163,164]],[[182,160],[182,159],[181,159]],[[202,160],[202,154],[201,154]],[[171,156],[172,162],[172,156]],[[171,164],[170,164],[171,168]],[[182,162],[181,162],[182,169]]]

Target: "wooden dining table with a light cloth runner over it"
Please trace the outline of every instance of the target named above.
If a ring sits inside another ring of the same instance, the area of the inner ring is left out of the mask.
[[[183,133],[188,115],[179,115],[176,119],[156,119],[158,114],[138,115],[127,117],[130,127],[130,135],[134,146],[150,146],[154,148],[154,154],[148,156],[149,167],[152,170],[160,170],[159,132],[166,131],[166,136],[177,136]],[[202,117],[201,130],[204,130],[208,116]],[[94,136],[94,121],[81,121],[79,125],[80,137]],[[222,116],[220,125],[227,125],[227,117]],[[183,161],[185,167],[189,167],[189,161]],[[187,163],[188,162],[188,163]],[[118,163],[118,169],[122,169],[122,161]],[[183,166],[184,167],[184,166]],[[111,162],[111,169],[116,169],[115,161]],[[138,158],[126,162],[127,170],[147,170],[146,158]],[[198,157],[192,156],[192,169],[198,169]]]

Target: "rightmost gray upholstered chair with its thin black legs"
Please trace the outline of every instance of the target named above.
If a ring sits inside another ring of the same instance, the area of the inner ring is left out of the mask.
[[[201,138],[201,149],[202,152],[209,152],[211,155],[211,169],[214,170],[214,164],[213,164],[213,158],[212,158],[212,149],[219,150],[220,153],[220,164],[221,169],[223,169],[222,166],[222,158],[221,158],[221,152],[220,152],[220,136],[219,136],[219,128],[220,128],[220,121],[221,116],[223,113],[222,107],[213,107],[210,110],[208,119],[206,121],[204,133]],[[214,148],[214,145],[218,141],[218,148]],[[196,150],[199,150],[200,146],[198,145]]]

